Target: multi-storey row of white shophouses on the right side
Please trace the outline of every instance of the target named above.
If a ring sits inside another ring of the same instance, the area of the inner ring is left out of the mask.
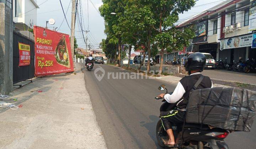
[[[226,0],[178,24],[177,27],[193,25],[195,29],[196,37],[186,52],[210,53],[215,60],[227,58],[229,62],[239,57],[256,59],[256,49],[251,48],[255,10],[255,0]],[[181,53],[182,57],[185,53]],[[166,54],[166,59],[174,55],[177,57],[176,51]]]

